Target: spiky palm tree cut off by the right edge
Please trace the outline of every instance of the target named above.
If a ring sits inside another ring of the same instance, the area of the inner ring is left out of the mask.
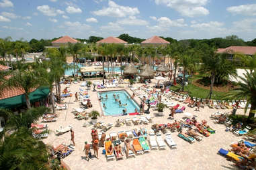
[[[227,96],[234,98],[236,100],[246,99],[247,104],[245,105],[245,113],[251,104],[249,111],[248,121],[253,118],[256,113],[256,70],[254,69],[252,73],[246,70],[243,74],[245,77],[239,76],[241,81],[238,83],[238,88],[228,92]]]

